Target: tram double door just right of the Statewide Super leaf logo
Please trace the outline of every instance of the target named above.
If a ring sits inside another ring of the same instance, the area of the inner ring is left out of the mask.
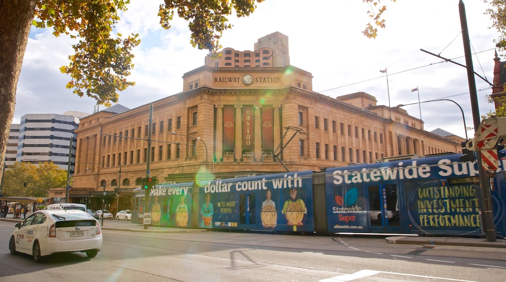
[[[370,230],[400,231],[397,183],[383,182],[367,187],[369,196]]]

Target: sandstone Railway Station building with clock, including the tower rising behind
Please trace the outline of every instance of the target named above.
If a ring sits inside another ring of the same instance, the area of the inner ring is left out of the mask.
[[[459,142],[368,93],[335,99],[314,92],[312,74],[290,65],[288,54],[288,37],[275,32],[254,51],[207,56],[183,75],[180,93],[82,118],[73,202],[98,208],[105,191],[111,209],[130,208],[148,160],[150,176],[171,183],[460,151]]]

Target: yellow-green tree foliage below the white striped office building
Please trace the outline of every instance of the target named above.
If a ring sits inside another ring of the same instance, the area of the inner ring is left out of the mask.
[[[4,175],[4,197],[48,197],[51,188],[67,186],[67,171],[53,162],[16,162]]]

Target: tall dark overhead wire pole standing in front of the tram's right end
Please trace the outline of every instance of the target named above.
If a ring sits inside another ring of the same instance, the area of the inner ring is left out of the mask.
[[[471,96],[471,109],[473,110],[473,121],[476,130],[480,127],[480,110],[478,108],[478,97],[476,95],[476,81],[474,78],[473,58],[471,57],[471,43],[469,40],[468,22],[466,19],[466,8],[462,0],[458,3],[460,15],[460,27],[462,28],[462,41],[464,45],[464,54],[466,56],[466,69],[468,73],[469,94]],[[478,173],[480,176],[481,197],[483,204],[482,224],[484,225],[487,242],[496,242],[495,224],[492,213],[492,196],[490,193],[490,182],[487,179],[485,169],[481,165],[481,152],[476,151],[478,162]]]

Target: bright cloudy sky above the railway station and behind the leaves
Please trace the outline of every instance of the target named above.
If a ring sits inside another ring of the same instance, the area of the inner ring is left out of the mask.
[[[481,0],[464,0],[476,73],[493,81],[495,29],[484,14]],[[161,1],[131,0],[115,31],[139,33],[141,44],[133,51],[135,68],[129,77],[136,85],[119,93],[118,104],[133,109],[183,89],[184,73],[204,65],[207,51],[193,48],[187,23],[175,19],[170,30],[159,25]],[[361,31],[369,22],[362,0],[265,0],[249,17],[230,17],[233,25],[223,33],[222,46],[245,51],[267,34],[279,31],[289,38],[290,64],[313,75],[313,90],[329,97],[363,91],[378,105],[434,99],[402,107],[425,122],[425,130],[441,128],[465,137],[466,125],[473,127],[473,114],[466,68],[445,62],[426,50],[465,65],[458,0],[383,1],[385,29],[375,39]],[[17,87],[13,123],[25,114],[92,113],[95,101],[79,98],[66,89],[70,77],[59,67],[68,64],[74,41],[54,37],[52,30],[32,28]],[[329,54],[331,56],[329,56]],[[499,54],[500,55],[500,54]],[[504,58],[501,58],[504,60]],[[387,69],[387,76],[380,70]],[[475,76],[480,115],[493,110],[486,100],[492,90]],[[388,86],[387,86],[388,85]],[[418,91],[411,91],[418,87]],[[99,106],[99,110],[105,109]],[[469,130],[474,136],[474,129]]]

